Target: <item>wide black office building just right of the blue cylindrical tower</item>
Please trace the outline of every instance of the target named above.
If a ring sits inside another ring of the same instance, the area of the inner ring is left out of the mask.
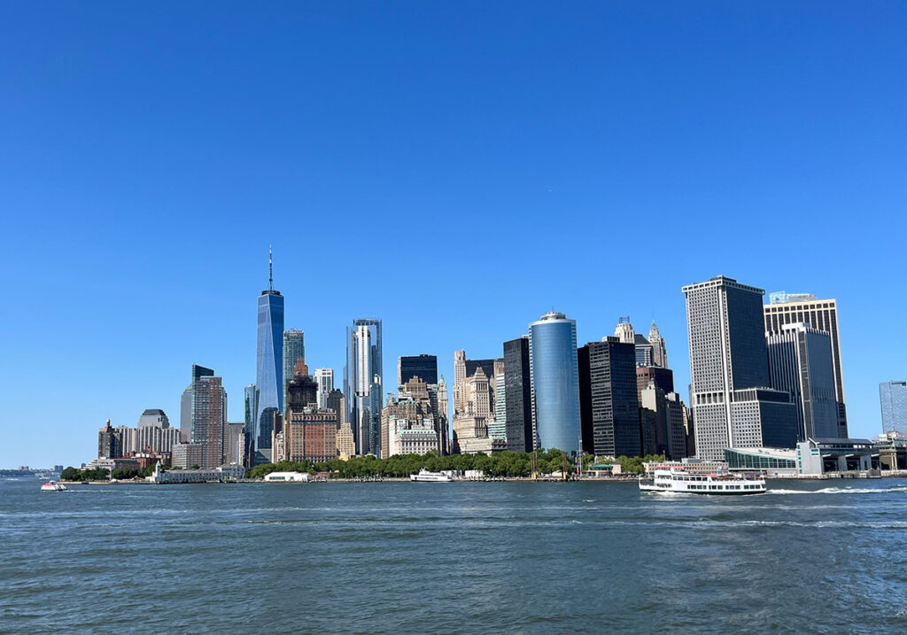
[[[583,450],[596,456],[641,456],[634,345],[605,337],[577,353]]]

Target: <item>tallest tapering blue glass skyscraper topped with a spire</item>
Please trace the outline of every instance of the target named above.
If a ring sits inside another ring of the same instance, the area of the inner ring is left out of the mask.
[[[283,317],[284,298],[274,289],[274,269],[268,250],[268,288],[258,296],[258,347],[255,386],[258,390],[255,416],[258,450],[269,450],[274,415],[283,412]],[[268,411],[268,412],[266,412]],[[266,455],[268,453],[265,453]]]

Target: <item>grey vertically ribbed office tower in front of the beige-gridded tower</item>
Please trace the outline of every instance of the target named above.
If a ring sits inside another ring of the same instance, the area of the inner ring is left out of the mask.
[[[832,339],[804,322],[782,325],[766,334],[771,387],[790,393],[796,405],[797,439],[839,434],[834,394]]]

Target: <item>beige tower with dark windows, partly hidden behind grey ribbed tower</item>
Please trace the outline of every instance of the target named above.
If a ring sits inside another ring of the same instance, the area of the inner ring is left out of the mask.
[[[838,303],[834,299],[818,299],[809,293],[778,291],[769,296],[763,307],[766,332],[780,333],[785,324],[804,322],[810,327],[828,333],[832,338],[834,365],[834,398],[838,409],[838,434],[847,437],[847,408],[844,405],[844,375],[841,365],[841,340],[838,336]]]

